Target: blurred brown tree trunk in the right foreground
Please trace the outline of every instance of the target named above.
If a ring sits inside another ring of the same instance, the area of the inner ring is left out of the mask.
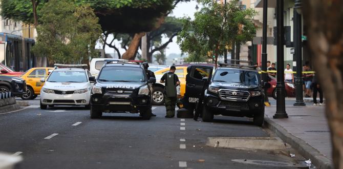
[[[326,98],[334,167],[343,168],[343,1],[304,0],[302,6],[316,76]]]

